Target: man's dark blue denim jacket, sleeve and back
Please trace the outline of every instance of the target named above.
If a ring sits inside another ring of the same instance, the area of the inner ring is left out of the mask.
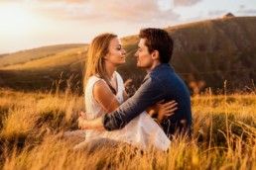
[[[142,85],[131,98],[116,111],[102,116],[103,126],[107,130],[122,128],[148,107],[163,99],[165,102],[175,100],[178,103],[175,114],[161,123],[166,134],[174,134],[176,129],[184,127],[181,123],[184,120],[190,129],[192,124],[190,93],[184,81],[168,63],[156,66],[146,75]]]

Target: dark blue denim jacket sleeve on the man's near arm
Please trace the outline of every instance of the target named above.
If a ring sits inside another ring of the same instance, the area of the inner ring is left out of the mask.
[[[164,90],[158,78],[147,76],[138,91],[116,111],[102,116],[106,130],[125,127],[148,107],[164,99]]]

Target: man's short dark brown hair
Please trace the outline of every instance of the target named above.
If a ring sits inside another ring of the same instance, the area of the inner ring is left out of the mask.
[[[174,42],[165,30],[154,28],[142,29],[139,37],[146,40],[145,45],[150,53],[154,50],[159,51],[162,63],[168,63],[171,60]]]

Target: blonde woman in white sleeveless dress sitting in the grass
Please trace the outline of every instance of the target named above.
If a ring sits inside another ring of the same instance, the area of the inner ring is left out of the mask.
[[[125,54],[126,51],[116,35],[102,34],[91,42],[84,76],[86,108],[84,117],[87,120],[116,110],[127,99],[123,80],[116,72],[117,67],[125,63]],[[173,112],[174,106],[169,107],[168,111]],[[146,112],[122,129],[86,130],[83,143],[96,138],[108,138],[142,147],[152,144],[162,150],[167,150],[171,143],[162,128]],[[77,145],[76,148],[81,145]]]

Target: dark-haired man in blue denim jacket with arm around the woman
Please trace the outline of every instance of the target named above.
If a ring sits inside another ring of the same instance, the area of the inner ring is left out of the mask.
[[[191,132],[191,98],[184,81],[169,64],[173,54],[173,40],[161,29],[140,31],[140,42],[135,53],[137,66],[144,68],[147,75],[138,91],[124,102],[116,111],[93,121],[78,119],[79,127],[114,130],[125,127],[132,119],[140,115],[155,103],[175,100],[179,109],[174,115],[161,122],[165,133],[171,137],[176,132]]]

